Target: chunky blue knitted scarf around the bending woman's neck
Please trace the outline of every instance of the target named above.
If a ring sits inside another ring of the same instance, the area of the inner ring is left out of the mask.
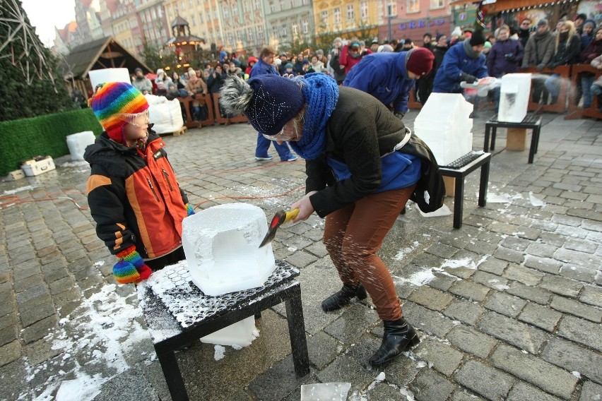
[[[304,159],[314,160],[326,147],[326,121],[338,100],[336,80],[323,73],[309,73],[301,90],[307,103],[301,140],[290,141],[290,147]]]

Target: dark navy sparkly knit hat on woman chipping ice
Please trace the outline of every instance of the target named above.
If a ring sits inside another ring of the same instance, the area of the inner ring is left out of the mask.
[[[247,81],[253,90],[253,99],[244,112],[257,131],[276,135],[305,104],[299,84],[292,79],[264,74]]]

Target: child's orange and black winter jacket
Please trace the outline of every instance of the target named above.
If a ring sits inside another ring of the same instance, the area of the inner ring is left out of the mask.
[[[154,259],[182,245],[188,199],[163,145],[149,129],[144,152],[104,132],[85,149],[92,169],[88,204],[96,233],[113,254],[134,245],[142,258]]]

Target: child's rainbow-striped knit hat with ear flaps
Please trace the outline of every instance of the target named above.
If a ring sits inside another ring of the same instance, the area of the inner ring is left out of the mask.
[[[119,119],[117,114],[143,112],[148,109],[148,102],[146,97],[129,83],[109,82],[99,85],[92,97],[91,106],[109,138],[125,144],[123,128],[127,122]]]

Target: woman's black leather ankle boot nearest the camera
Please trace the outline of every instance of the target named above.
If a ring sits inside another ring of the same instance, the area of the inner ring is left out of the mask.
[[[384,335],[378,351],[368,359],[374,367],[387,364],[406,348],[415,347],[420,343],[420,338],[412,325],[401,318],[399,321],[382,321]]]

